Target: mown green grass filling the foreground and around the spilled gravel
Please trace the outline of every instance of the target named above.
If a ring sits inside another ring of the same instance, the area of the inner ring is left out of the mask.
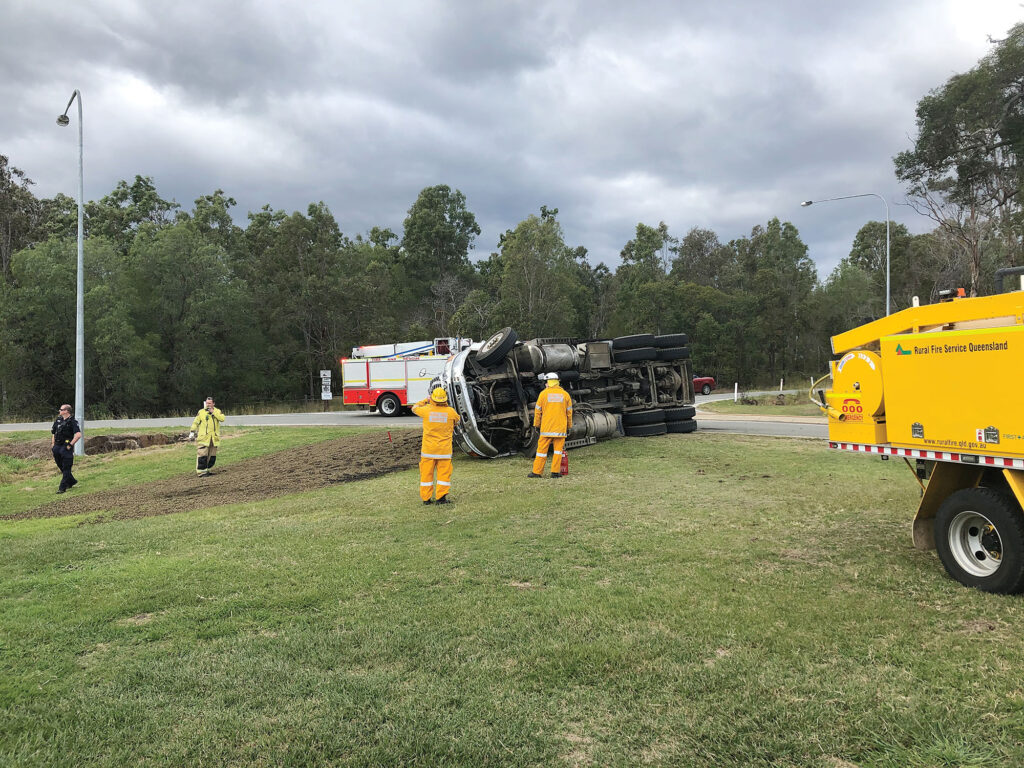
[[[143,454],[80,476],[190,470]],[[912,549],[902,464],[696,433],[527,470],[0,521],[0,765],[1024,763],[1021,599]]]

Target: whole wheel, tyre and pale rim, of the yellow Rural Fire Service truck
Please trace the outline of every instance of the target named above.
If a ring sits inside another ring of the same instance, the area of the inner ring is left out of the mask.
[[[996,488],[964,488],[935,515],[935,547],[946,571],[983,592],[1024,591],[1024,516]]]

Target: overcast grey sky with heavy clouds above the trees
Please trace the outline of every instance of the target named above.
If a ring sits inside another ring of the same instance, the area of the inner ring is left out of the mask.
[[[908,209],[892,158],[930,89],[1024,18],[1013,0],[216,2],[0,0],[0,154],[37,196],[152,176],[236,220],[324,201],[349,237],[400,234],[419,191],[461,189],[474,258],[541,205],[618,262],[638,221],[723,242],[772,217],[821,278]]]

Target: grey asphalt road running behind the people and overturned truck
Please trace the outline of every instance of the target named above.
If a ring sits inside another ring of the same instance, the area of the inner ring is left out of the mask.
[[[731,399],[731,394],[697,395],[696,406],[699,410],[703,402]],[[56,414],[54,414],[54,418]],[[177,427],[187,429],[193,417],[178,419],[98,419],[89,421],[85,427],[87,433],[101,429],[138,429],[142,427]],[[267,414],[263,416],[231,416],[227,411],[228,425],[245,427],[389,427],[419,426],[420,420],[415,416],[399,416],[385,418],[368,411],[345,411],[330,414]],[[48,431],[52,422],[37,422],[35,424],[0,424],[0,432],[25,432],[30,430]],[[786,417],[745,417],[697,414],[698,429],[705,432],[720,432],[728,434],[768,435],[774,437],[812,437],[825,439],[828,428],[824,422],[814,419]]]

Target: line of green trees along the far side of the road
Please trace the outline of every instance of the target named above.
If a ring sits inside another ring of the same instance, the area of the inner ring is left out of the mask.
[[[932,231],[892,226],[893,309],[963,286],[991,290],[1020,263],[1024,25],[970,72],[927,94],[919,136],[895,159]],[[77,204],[39,199],[0,155],[0,419],[52,412],[74,391]],[[471,260],[480,228],[437,184],[401,233],[345,234],[323,202],[264,206],[246,225],[216,189],[183,209],[152,178],[85,206],[88,416],[177,413],[215,393],[236,407],[319,397],[352,346],[482,339],[690,334],[694,371],[749,386],[825,370],[831,335],[885,312],[885,222],[868,221],[819,279],[797,227],[773,218],[722,242],[636,225],[620,263],[593,265],[541,206]]]

